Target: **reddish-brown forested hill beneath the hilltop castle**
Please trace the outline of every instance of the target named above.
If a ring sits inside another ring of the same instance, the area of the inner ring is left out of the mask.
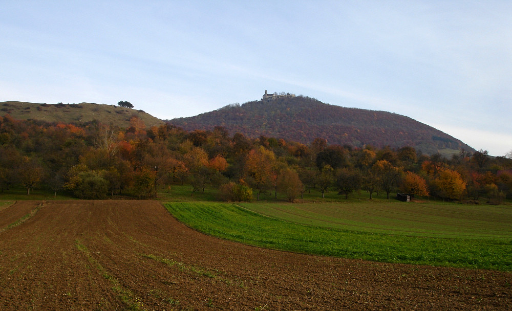
[[[460,140],[409,117],[383,111],[346,108],[297,96],[227,105],[195,117],[167,122],[186,130],[225,127],[231,134],[283,138],[310,143],[325,138],[329,144],[356,147],[412,146],[424,153],[443,149],[474,149]]]

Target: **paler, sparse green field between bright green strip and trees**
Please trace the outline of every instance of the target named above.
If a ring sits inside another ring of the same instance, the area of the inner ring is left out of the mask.
[[[512,239],[507,206],[418,203],[261,204],[251,211],[297,224],[428,237]]]

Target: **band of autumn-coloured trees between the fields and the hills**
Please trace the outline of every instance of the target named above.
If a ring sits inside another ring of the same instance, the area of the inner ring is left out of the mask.
[[[501,204],[512,198],[511,154],[460,151],[450,159],[412,147],[365,148],[309,144],[261,136],[230,136],[223,127],[186,131],[147,128],[137,117],[117,128],[20,121],[0,117],[0,190],[52,189],[80,198],[154,197],[173,184],[190,195],[214,187],[219,199],[249,201],[262,194],[289,201],[316,191],[348,198],[357,191],[401,192],[449,201]]]

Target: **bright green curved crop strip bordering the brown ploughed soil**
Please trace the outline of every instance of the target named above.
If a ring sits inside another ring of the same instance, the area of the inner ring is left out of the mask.
[[[187,226],[264,248],[379,262],[512,271],[512,241],[418,237],[321,228],[223,203],[166,203]]]

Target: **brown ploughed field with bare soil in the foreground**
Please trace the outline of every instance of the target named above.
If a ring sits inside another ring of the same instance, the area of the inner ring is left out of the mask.
[[[0,229],[40,203],[0,211]],[[265,250],[150,201],[45,202],[0,232],[0,275],[1,310],[512,309],[512,273]]]

